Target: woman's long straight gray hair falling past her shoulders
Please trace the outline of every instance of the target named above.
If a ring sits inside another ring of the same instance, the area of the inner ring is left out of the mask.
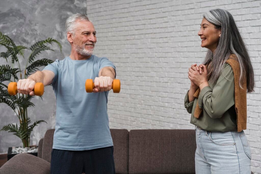
[[[235,54],[240,65],[239,86],[242,88],[243,79],[247,80],[247,92],[254,91],[254,72],[245,43],[239,33],[233,16],[223,9],[210,10],[203,17],[212,23],[216,29],[221,29],[221,37],[214,53],[208,50],[203,64],[209,64],[209,81],[217,82],[224,64],[231,54]]]

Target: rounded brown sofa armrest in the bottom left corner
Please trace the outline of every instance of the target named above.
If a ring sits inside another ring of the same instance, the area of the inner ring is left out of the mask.
[[[28,153],[20,153],[15,155],[0,168],[1,174],[50,174],[50,172],[49,162]]]

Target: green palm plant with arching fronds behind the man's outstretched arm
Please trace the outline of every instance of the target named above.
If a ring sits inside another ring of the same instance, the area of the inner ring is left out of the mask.
[[[22,78],[26,79],[28,75],[39,70],[40,67],[52,63],[52,60],[46,58],[36,60],[36,56],[42,51],[54,51],[48,46],[48,44],[52,45],[52,43],[58,44],[60,51],[62,51],[62,45],[52,38],[38,41],[29,48],[23,45],[16,46],[10,37],[2,34],[0,31],[0,45],[6,48],[6,52],[1,52],[0,57],[4,58],[7,62],[7,64],[0,65],[0,103],[5,103],[10,106],[20,123],[19,125],[17,125],[17,123],[8,124],[4,126],[1,131],[12,132],[14,135],[18,136],[22,140],[23,148],[30,146],[30,135],[33,128],[37,126],[37,124],[45,121],[39,120],[32,123],[30,117],[27,115],[27,109],[28,107],[34,106],[31,102],[31,99],[34,96],[19,93],[16,95],[9,95],[7,83],[16,82]],[[24,53],[26,50],[31,50],[31,53],[27,58],[25,67],[22,68],[19,63],[19,58],[25,59]]]

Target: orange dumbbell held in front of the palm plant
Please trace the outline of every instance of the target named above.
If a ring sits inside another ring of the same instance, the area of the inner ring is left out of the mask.
[[[34,85],[34,94],[41,96],[44,94],[44,84],[43,83],[35,83]],[[17,83],[16,82],[10,82],[8,85],[8,93],[10,95],[16,95],[18,93],[17,91]]]

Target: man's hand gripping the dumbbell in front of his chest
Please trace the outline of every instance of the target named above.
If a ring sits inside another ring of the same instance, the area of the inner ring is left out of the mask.
[[[99,76],[95,77],[94,79],[94,87],[93,92],[103,92],[103,91],[110,91],[113,79],[107,76]]]

